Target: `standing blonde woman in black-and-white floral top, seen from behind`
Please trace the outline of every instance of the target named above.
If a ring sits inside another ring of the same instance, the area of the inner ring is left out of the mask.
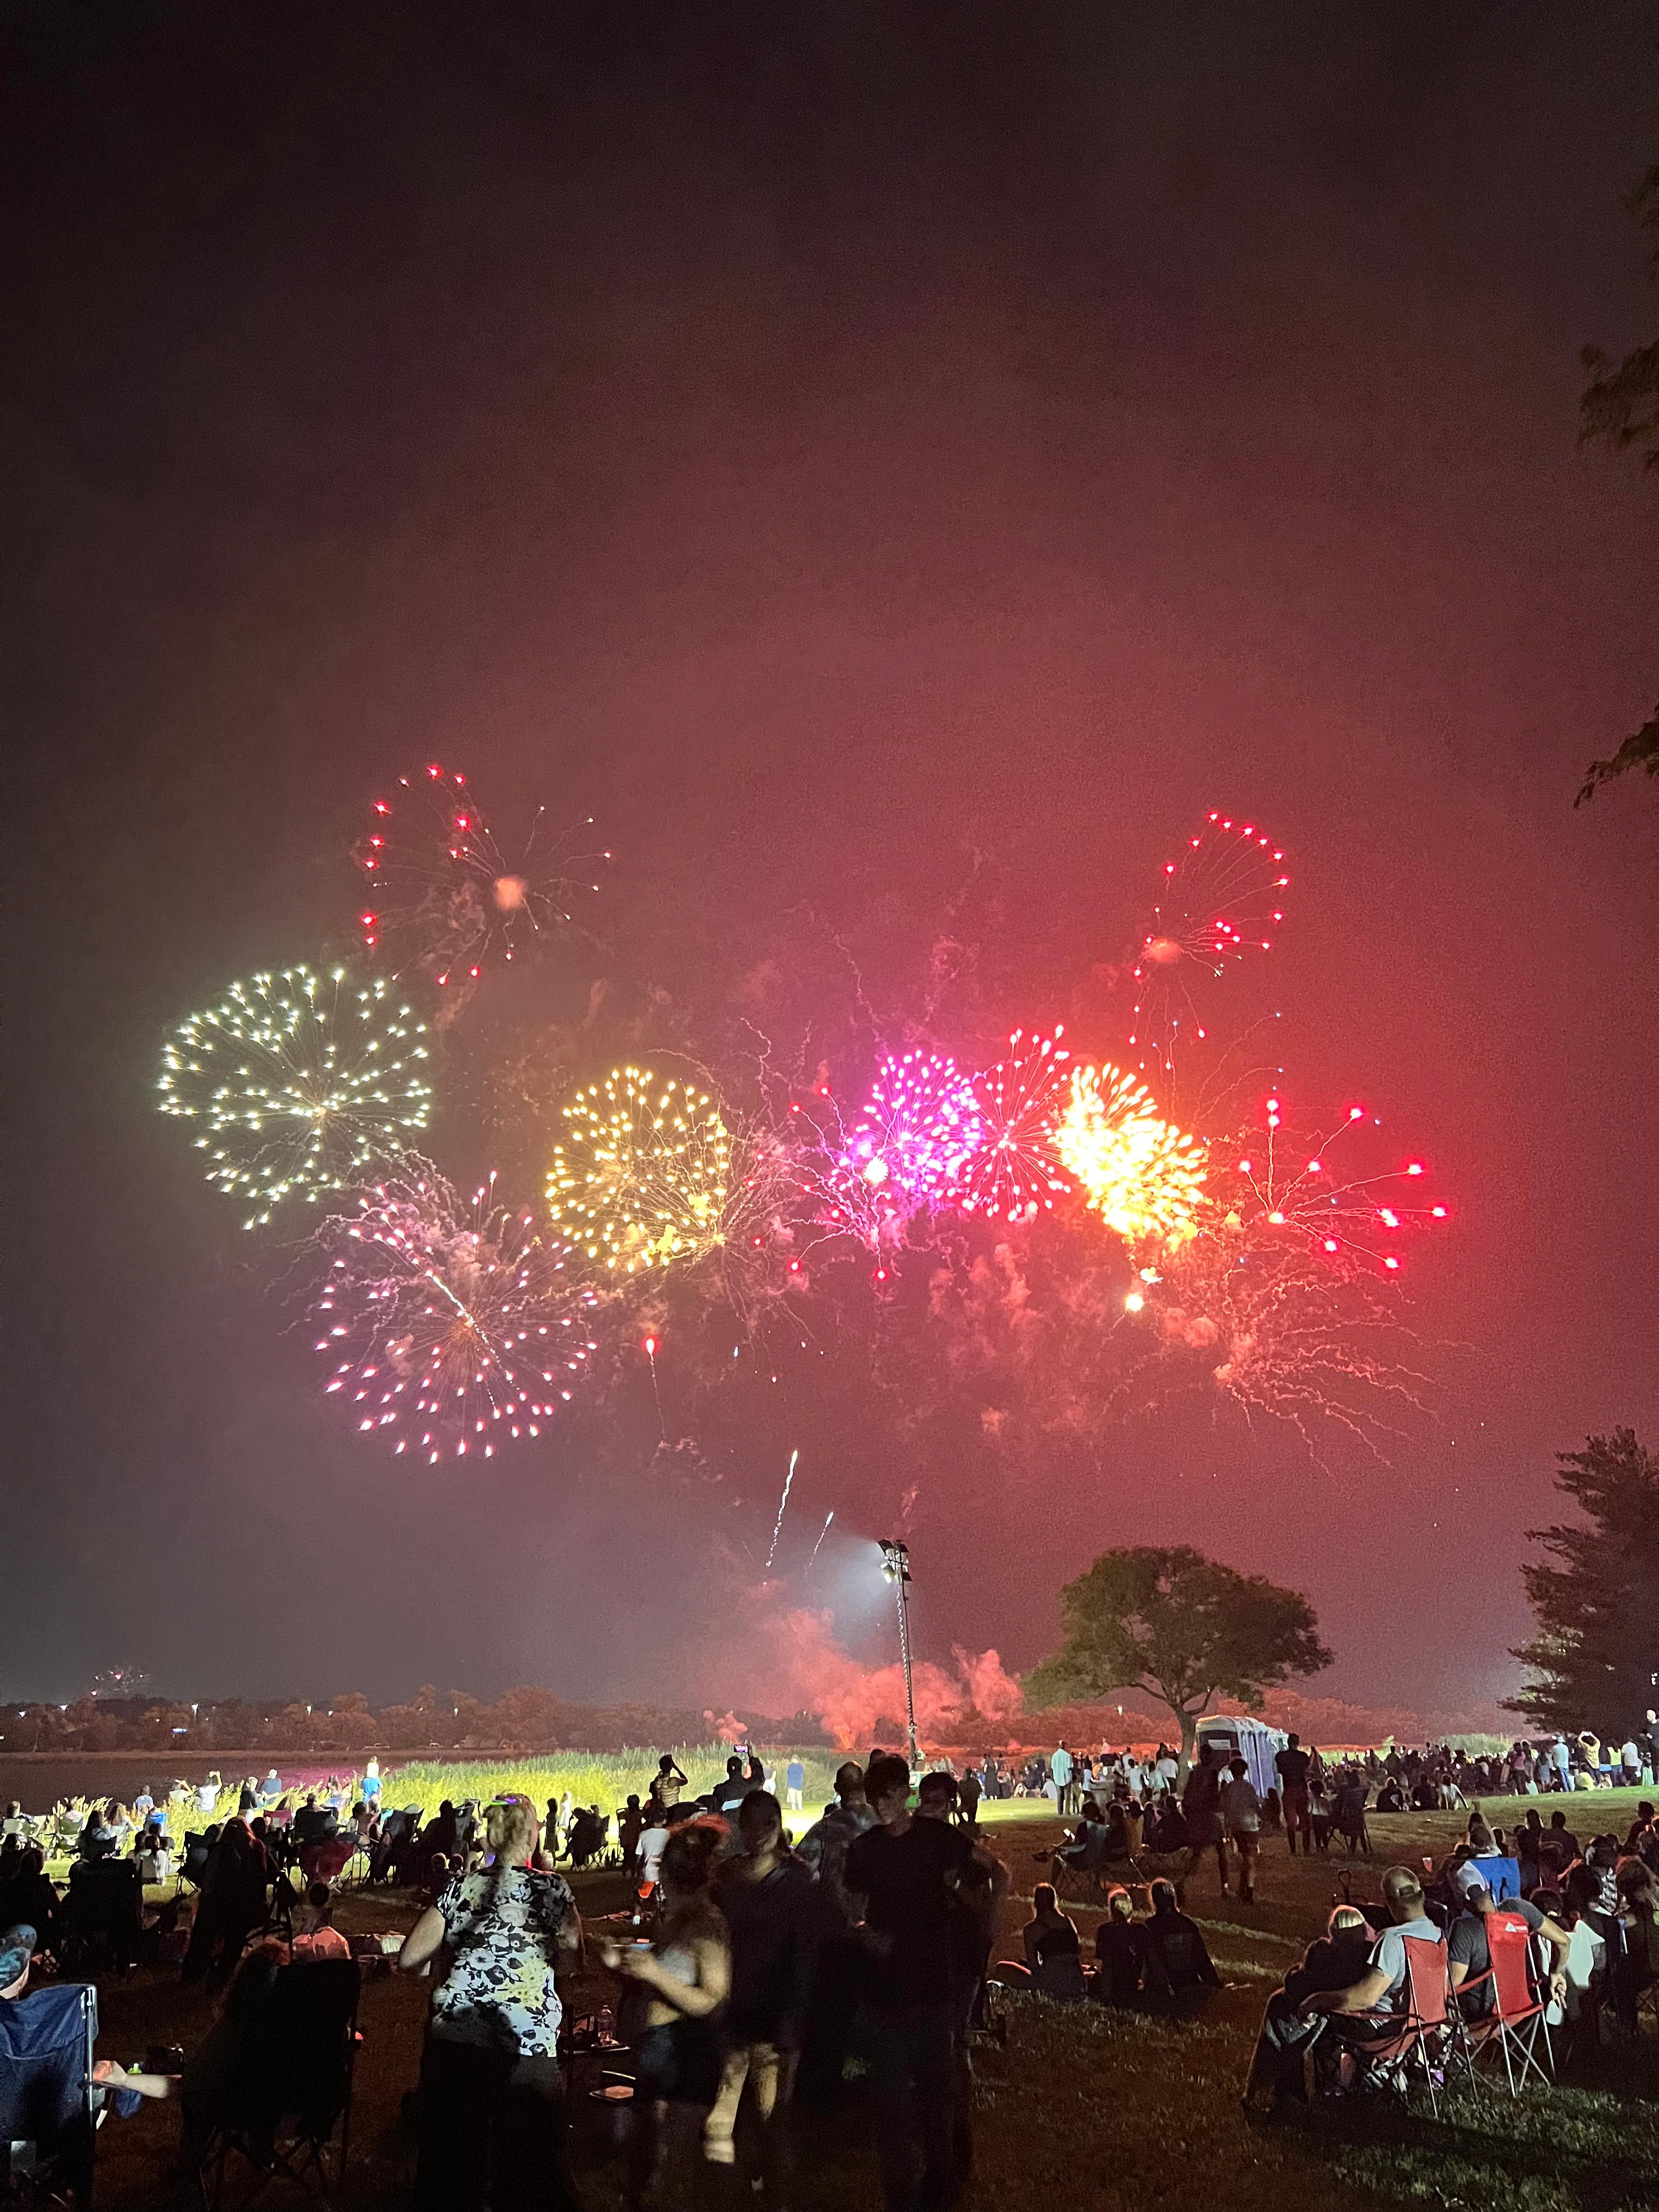
[[[564,2148],[557,2062],[562,1978],[582,1920],[562,1874],[531,1871],[535,1807],[495,1798],[484,1814],[491,1865],[458,1874],[416,1920],[398,1966],[438,1953],[420,2059],[420,2163],[414,2212],[549,2205],[582,2212]]]

